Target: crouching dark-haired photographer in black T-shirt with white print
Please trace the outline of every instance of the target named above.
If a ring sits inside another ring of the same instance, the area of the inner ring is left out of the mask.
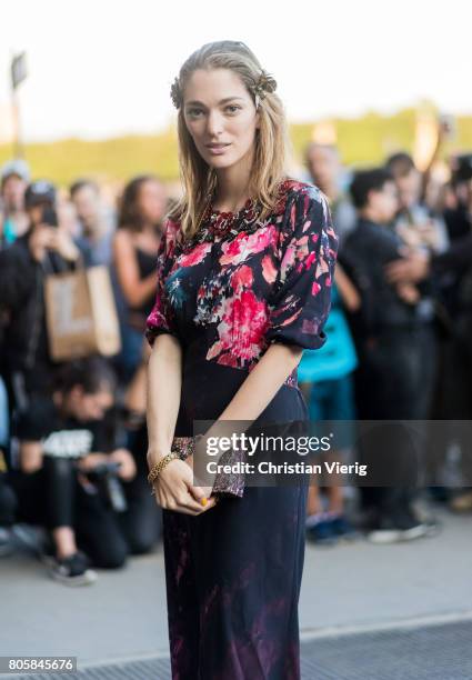
[[[50,574],[70,586],[92,583],[91,566],[122,567],[130,551],[120,526],[129,514],[121,482],[134,479],[135,463],[116,448],[113,428],[107,431],[114,387],[103,359],[69,363],[52,398],[34,399],[18,423],[20,464],[11,481],[19,519],[47,527]]]

